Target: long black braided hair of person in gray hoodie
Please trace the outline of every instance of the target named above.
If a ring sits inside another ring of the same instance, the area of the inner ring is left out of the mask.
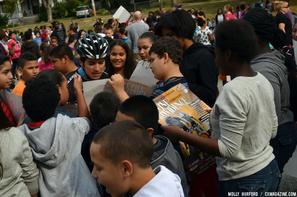
[[[265,9],[254,8],[243,19],[254,27],[259,41],[271,43],[276,49],[287,46],[286,34],[276,26],[273,16]]]

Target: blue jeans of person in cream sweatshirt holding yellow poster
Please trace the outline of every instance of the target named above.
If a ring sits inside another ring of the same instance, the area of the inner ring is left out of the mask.
[[[219,197],[227,197],[230,192],[255,192],[254,196],[265,196],[265,192],[274,192],[278,186],[281,174],[277,167],[277,161],[272,160],[262,170],[240,178],[229,181],[219,181]]]

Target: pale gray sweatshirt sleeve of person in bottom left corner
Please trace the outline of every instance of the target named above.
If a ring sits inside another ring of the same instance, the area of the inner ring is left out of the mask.
[[[38,174],[39,170],[33,161],[31,149],[29,147],[28,140],[22,134],[22,147],[23,147],[23,161],[20,163],[20,167],[23,170],[22,178],[26,184],[30,195],[36,194],[39,190],[38,187]]]

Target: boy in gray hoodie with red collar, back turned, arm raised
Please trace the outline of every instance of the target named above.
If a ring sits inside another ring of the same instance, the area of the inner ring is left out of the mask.
[[[78,81],[77,76],[75,80]],[[77,98],[84,101],[80,86],[82,83],[76,85],[75,91]],[[59,89],[53,82],[45,79],[26,81],[23,108],[32,122],[19,129],[28,139],[40,169],[40,196],[99,197],[96,182],[80,154],[83,138],[90,130],[90,121],[61,114],[52,118],[59,101]],[[85,109],[84,101],[78,106],[80,116],[86,112]]]

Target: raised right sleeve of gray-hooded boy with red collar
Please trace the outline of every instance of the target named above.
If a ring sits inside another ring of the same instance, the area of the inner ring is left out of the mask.
[[[72,121],[73,131],[76,132],[80,142],[87,135],[91,129],[91,122],[88,118],[70,118]]]

